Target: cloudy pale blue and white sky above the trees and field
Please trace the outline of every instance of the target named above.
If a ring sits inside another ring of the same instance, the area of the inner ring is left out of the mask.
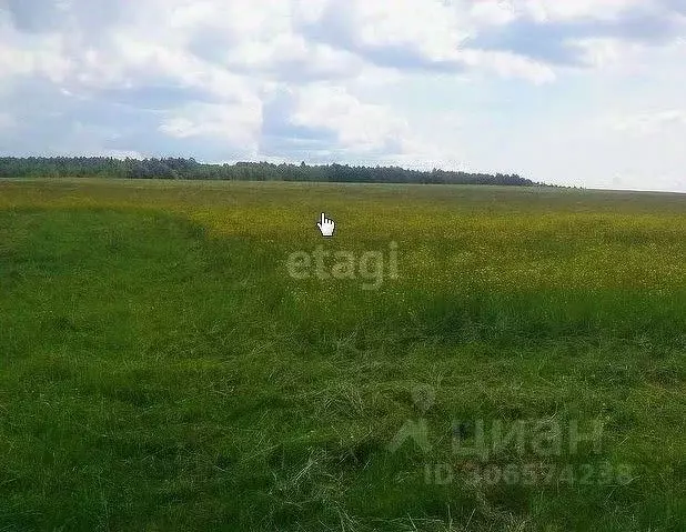
[[[686,0],[0,0],[0,155],[686,192]]]

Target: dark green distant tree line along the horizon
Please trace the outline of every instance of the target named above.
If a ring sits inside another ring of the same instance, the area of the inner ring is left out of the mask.
[[[194,159],[114,159],[107,157],[0,158],[0,178],[214,179],[236,181],[323,181],[356,183],[430,183],[543,185],[517,174],[468,173],[400,167],[309,165],[269,162],[205,164]]]

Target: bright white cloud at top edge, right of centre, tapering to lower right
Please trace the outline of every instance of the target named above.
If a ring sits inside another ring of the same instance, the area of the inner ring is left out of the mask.
[[[438,1],[399,0],[396,2],[329,2],[319,4],[311,24],[336,20],[330,43],[345,48],[370,62],[394,69],[420,67],[453,71],[482,72],[505,78],[521,77],[536,83],[551,81],[549,66],[508,51],[473,49],[467,40],[485,27],[505,26],[518,16],[504,0]],[[322,38],[320,36],[320,38]]]

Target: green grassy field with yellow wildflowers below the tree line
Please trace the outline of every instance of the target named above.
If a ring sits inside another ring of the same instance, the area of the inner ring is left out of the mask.
[[[0,181],[0,530],[683,531],[685,353],[684,195]]]

